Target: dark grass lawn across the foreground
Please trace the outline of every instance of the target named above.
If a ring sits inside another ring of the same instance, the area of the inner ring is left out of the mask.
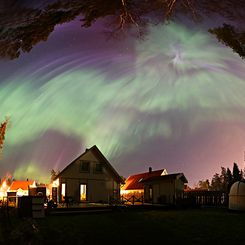
[[[12,226],[10,244],[244,244],[245,213],[124,211],[17,219]]]

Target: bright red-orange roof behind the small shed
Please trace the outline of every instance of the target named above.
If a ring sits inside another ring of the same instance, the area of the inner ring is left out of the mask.
[[[166,169],[159,169],[151,172],[145,172],[141,174],[135,174],[129,176],[126,181],[125,185],[122,187],[122,190],[141,190],[144,189],[143,181],[154,178],[154,177],[161,177],[167,173]]]

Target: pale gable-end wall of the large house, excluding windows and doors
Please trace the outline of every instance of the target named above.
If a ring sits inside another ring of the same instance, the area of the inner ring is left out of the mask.
[[[81,161],[89,161],[88,172],[81,172]],[[96,163],[103,163],[103,171],[95,171]],[[114,179],[114,175],[105,162],[98,159],[92,151],[87,151],[75,162],[65,169],[60,175],[59,201],[61,201],[61,185],[66,183],[66,196],[72,197],[76,202],[80,201],[80,184],[87,185],[88,202],[108,202],[110,197],[120,197],[120,183]]]

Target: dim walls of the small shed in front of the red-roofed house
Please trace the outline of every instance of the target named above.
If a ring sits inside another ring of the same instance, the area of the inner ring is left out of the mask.
[[[152,188],[152,200],[150,199],[150,187]],[[183,196],[184,183],[179,179],[161,180],[145,183],[145,202],[174,204]]]

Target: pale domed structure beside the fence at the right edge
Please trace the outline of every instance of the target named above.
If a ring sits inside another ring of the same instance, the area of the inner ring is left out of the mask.
[[[245,183],[242,181],[235,182],[230,189],[229,209],[245,210]]]

